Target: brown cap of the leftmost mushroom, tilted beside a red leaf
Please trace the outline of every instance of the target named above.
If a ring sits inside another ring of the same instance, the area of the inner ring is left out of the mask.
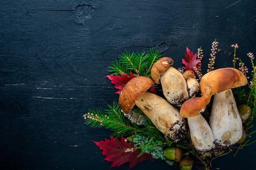
[[[151,78],[144,76],[137,76],[128,81],[119,95],[119,105],[122,111],[128,114],[139,97],[153,84]]]

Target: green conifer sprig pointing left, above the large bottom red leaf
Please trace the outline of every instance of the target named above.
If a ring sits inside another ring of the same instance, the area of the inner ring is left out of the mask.
[[[92,128],[105,127],[114,131],[113,137],[121,138],[121,136],[132,136],[133,134],[141,134],[146,136],[154,136],[164,139],[164,135],[153,125],[148,119],[144,125],[138,126],[131,123],[121,112],[118,102],[114,101],[113,106],[108,105],[109,109],[104,111],[99,109],[89,109],[89,112],[84,114],[88,124]]]

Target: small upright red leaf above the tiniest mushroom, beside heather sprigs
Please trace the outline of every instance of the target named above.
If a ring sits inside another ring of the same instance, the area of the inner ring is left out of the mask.
[[[194,67],[196,67],[198,70],[200,69],[200,65],[198,63],[201,61],[201,59],[197,59],[197,54],[193,54],[189,48],[186,48],[186,53],[185,53],[185,59],[182,59],[182,63],[185,65],[184,68],[185,70],[194,70]]]

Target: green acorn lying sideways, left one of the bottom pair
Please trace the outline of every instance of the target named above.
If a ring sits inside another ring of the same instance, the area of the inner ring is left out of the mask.
[[[164,156],[167,159],[174,160],[176,162],[180,161],[182,154],[182,149],[179,147],[171,146],[164,150]]]

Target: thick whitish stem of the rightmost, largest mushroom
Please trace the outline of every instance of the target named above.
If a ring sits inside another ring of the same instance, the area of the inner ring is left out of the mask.
[[[218,145],[229,146],[242,137],[243,124],[231,89],[214,95],[209,124]]]

